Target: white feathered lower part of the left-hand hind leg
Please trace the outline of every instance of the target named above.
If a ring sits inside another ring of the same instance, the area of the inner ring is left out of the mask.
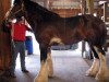
[[[86,71],[86,75],[95,77],[99,70],[99,59],[94,58],[92,67]]]

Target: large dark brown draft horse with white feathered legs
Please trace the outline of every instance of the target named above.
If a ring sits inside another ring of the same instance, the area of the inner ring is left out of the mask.
[[[48,77],[53,75],[52,45],[72,45],[81,40],[87,42],[94,54],[94,61],[86,75],[93,75],[96,80],[105,79],[107,66],[104,45],[107,28],[100,19],[92,14],[61,17],[31,0],[15,0],[5,21],[16,15],[26,19],[39,44],[40,70],[35,82],[48,82]]]

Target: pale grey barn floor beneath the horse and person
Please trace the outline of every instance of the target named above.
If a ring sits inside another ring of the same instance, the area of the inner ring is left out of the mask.
[[[53,78],[49,82],[109,82],[96,81],[93,77],[86,77],[85,72],[89,69],[93,60],[82,58],[81,51],[72,50],[52,50]],[[17,58],[15,79],[0,77],[0,82],[33,82],[37,75],[40,61],[39,55],[26,56],[26,67],[29,73],[25,74],[20,68],[20,58]],[[109,55],[107,55],[107,65],[109,68]]]

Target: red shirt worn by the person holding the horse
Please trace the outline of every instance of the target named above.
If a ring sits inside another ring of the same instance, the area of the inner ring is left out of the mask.
[[[25,33],[26,33],[27,26],[24,24],[14,23],[13,25],[13,40],[25,40]]]

